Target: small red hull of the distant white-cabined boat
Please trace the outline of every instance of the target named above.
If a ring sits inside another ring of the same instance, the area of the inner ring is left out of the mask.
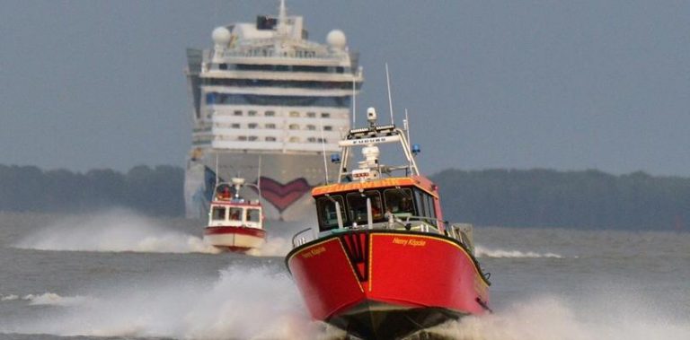
[[[266,231],[247,227],[207,227],[204,239],[221,250],[244,252],[261,247],[266,240]]]

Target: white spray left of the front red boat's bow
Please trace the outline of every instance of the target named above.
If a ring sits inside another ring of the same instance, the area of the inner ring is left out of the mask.
[[[64,313],[12,329],[57,336],[163,336],[181,339],[300,339],[323,336],[294,283],[267,268],[227,268],[198,280],[118,287]]]

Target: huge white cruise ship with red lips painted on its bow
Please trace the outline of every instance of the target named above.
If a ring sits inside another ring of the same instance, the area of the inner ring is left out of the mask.
[[[187,50],[187,217],[208,214],[217,178],[241,176],[261,188],[268,219],[313,219],[306,194],[326,172],[337,176],[324,155],[338,152],[349,131],[363,81],[358,54],[342,31],[330,31],[325,44],[309,40],[304,19],[288,16],[284,0],[278,16],[217,27],[211,36],[213,48]]]

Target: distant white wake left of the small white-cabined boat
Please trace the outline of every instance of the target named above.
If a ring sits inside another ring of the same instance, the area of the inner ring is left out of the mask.
[[[104,252],[219,252],[200,237],[166,229],[154,220],[124,211],[111,211],[86,219],[66,218],[24,236],[14,247]]]

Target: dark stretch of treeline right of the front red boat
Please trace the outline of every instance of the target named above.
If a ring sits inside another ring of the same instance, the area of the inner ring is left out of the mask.
[[[690,179],[598,170],[445,170],[447,220],[515,227],[690,229]]]

